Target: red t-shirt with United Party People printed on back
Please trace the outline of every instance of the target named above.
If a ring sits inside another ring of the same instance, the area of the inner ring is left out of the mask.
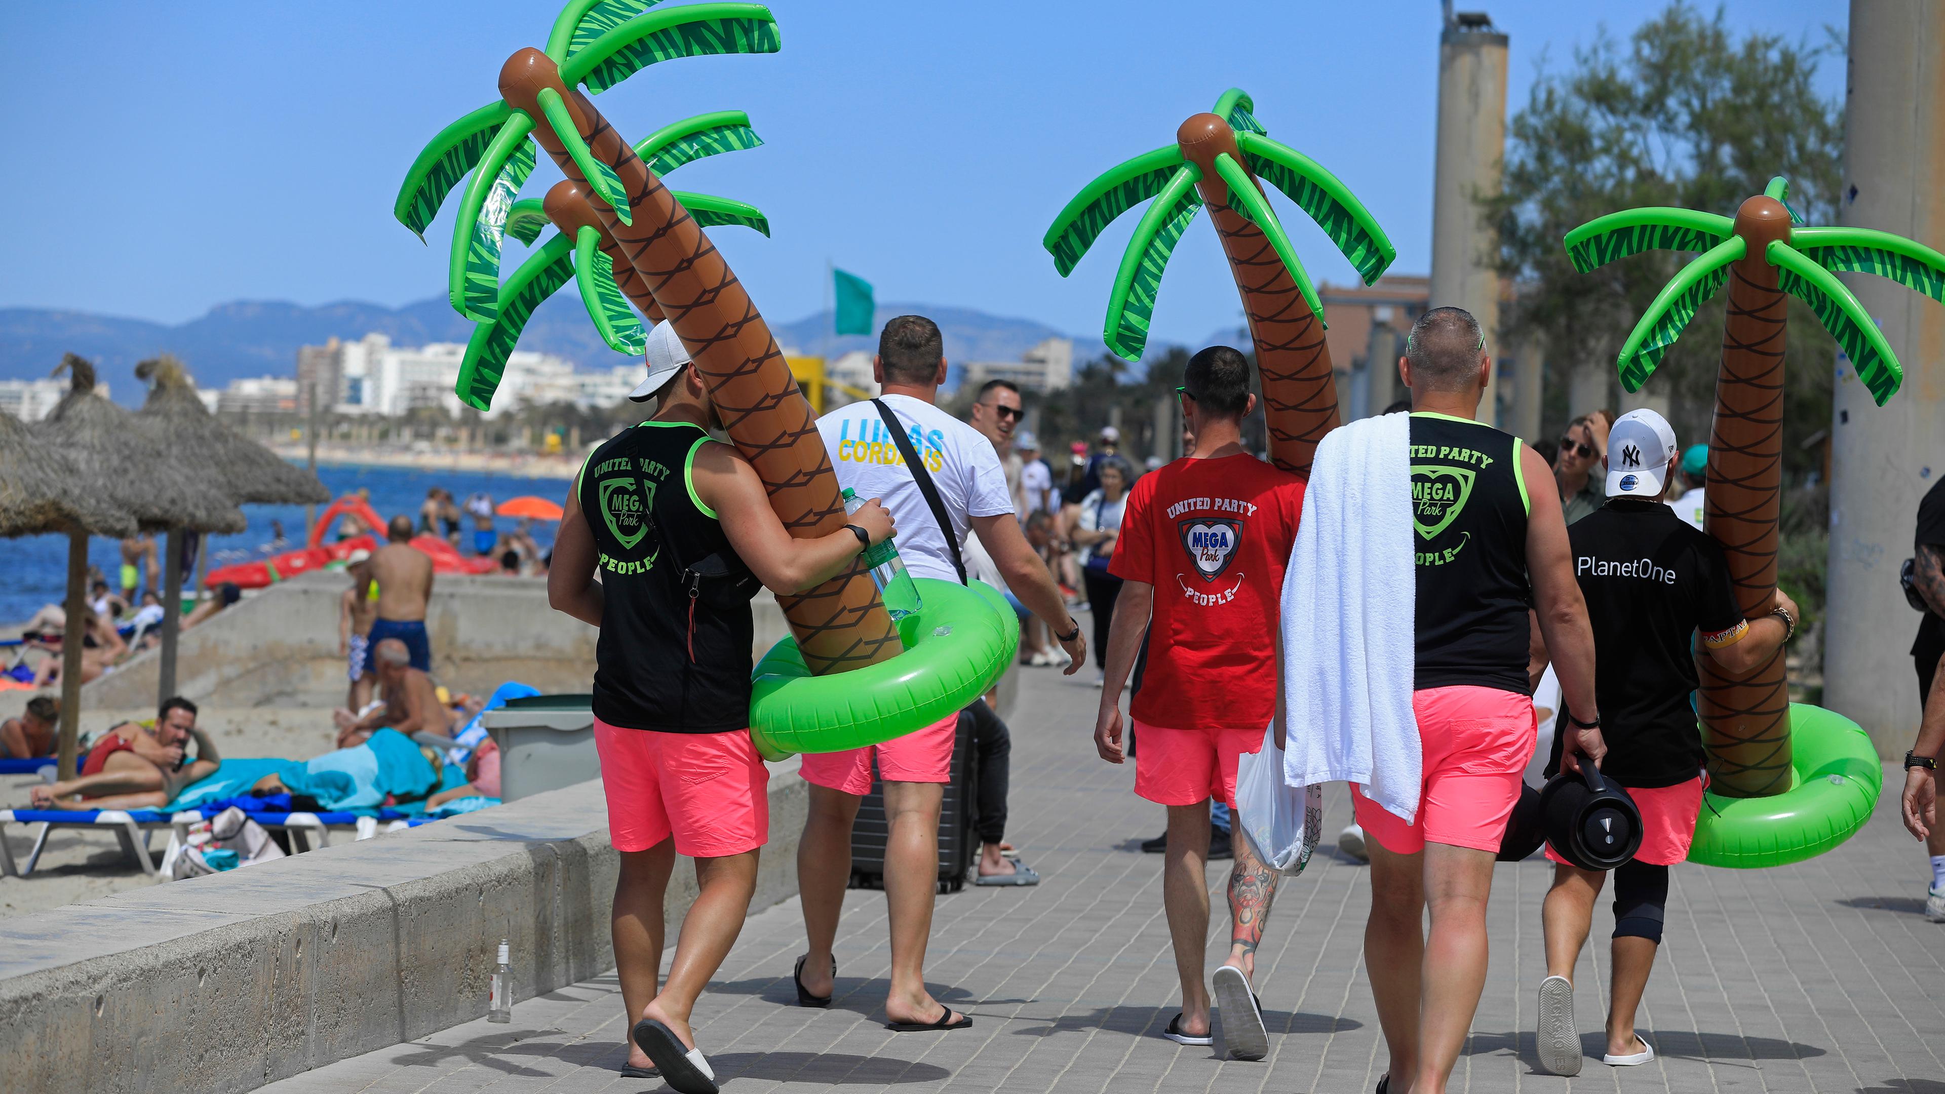
[[[1245,730],[1276,712],[1276,621],[1303,479],[1256,459],[1177,459],[1136,479],[1109,572],[1155,586],[1128,712]]]

